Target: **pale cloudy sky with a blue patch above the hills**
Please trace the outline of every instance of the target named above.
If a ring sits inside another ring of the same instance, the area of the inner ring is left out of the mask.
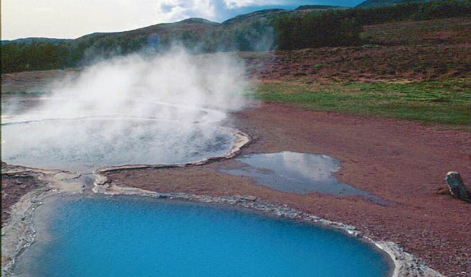
[[[1,39],[76,38],[202,17],[222,22],[267,8],[356,6],[362,0],[1,0]]]

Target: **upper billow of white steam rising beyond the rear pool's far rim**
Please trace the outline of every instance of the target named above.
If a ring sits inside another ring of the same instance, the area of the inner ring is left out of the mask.
[[[244,74],[243,64],[224,53],[189,55],[173,48],[162,55],[115,57],[90,66],[75,80],[62,80],[53,98],[66,102],[61,107],[45,105],[40,112],[51,118],[123,113],[168,117],[165,109],[145,105],[150,101],[188,108],[179,113],[201,108],[235,111],[248,103]]]

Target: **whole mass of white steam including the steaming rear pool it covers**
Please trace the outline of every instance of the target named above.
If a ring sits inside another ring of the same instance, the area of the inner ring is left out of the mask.
[[[250,101],[242,63],[182,48],[97,62],[54,87],[2,125],[3,161],[82,172],[196,161],[230,147],[220,120]]]

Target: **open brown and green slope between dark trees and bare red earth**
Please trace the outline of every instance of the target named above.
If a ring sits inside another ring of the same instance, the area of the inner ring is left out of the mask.
[[[240,55],[268,102],[471,131],[470,28],[463,18],[392,22],[365,26],[374,45]]]

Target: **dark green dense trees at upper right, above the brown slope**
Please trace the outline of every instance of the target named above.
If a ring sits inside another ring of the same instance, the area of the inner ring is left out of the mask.
[[[277,48],[292,50],[371,44],[360,37],[364,25],[470,15],[471,1],[432,1],[285,15],[274,19],[273,24]]]

